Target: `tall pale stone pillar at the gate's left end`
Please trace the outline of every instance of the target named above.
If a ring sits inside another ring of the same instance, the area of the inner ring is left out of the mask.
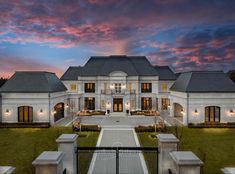
[[[77,134],[62,134],[57,138],[58,151],[65,153],[63,167],[66,168],[67,174],[77,173]]]

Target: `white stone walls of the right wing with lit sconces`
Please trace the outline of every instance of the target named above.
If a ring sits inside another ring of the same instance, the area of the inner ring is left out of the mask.
[[[171,91],[171,116],[175,116],[175,104],[183,107],[183,123],[204,123],[205,108],[220,108],[221,123],[235,122],[235,93],[183,93]],[[232,112],[231,112],[232,111]]]

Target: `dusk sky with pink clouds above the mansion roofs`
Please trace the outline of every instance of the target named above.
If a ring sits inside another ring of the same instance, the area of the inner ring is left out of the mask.
[[[235,0],[0,0],[0,76],[58,76],[95,55],[235,69]]]

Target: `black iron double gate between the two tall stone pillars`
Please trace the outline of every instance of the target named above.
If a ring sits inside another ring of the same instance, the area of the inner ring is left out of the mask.
[[[76,152],[79,174],[158,173],[157,147],[77,147]]]

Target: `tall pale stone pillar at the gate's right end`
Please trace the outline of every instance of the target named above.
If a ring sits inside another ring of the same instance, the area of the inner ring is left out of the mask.
[[[168,174],[168,169],[171,167],[172,160],[170,152],[177,151],[179,140],[173,134],[158,134],[158,173]]]

